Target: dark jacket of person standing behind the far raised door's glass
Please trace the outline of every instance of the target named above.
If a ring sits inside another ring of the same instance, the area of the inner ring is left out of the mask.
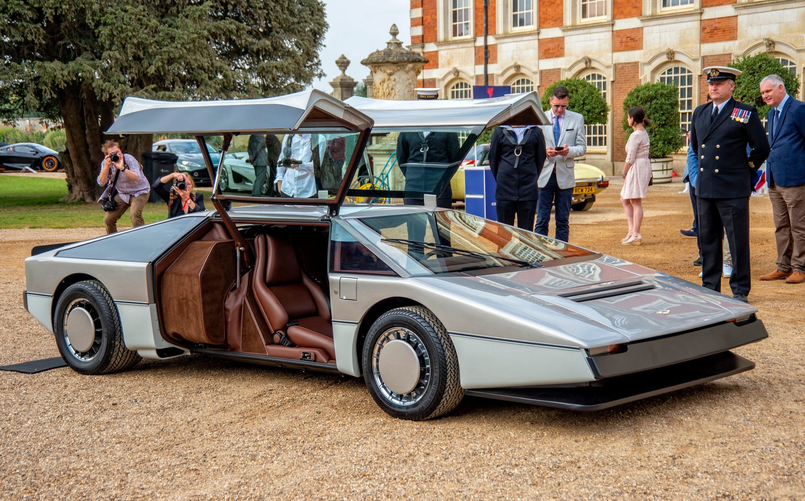
[[[424,156],[423,147],[427,146],[427,157]],[[454,132],[431,132],[427,138],[420,132],[403,132],[397,138],[397,165],[405,176],[406,191],[433,191],[436,185],[447,183],[440,198],[452,197],[450,177],[443,169],[412,168],[403,166],[406,163],[436,163],[448,164],[457,162],[459,150],[458,134]],[[414,193],[407,196],[419,198]]]

